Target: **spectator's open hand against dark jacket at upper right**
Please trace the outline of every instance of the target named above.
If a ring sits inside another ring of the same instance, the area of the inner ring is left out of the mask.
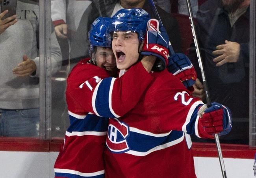
[[[225,44],[218,45],[216,49],[217,50],[212,52],[214,55],[219,55],[213,59],[213,61],[217,63],[216,66],[221,66],[224,63],[236,63],[239,59],[239,43],[225,40]]]

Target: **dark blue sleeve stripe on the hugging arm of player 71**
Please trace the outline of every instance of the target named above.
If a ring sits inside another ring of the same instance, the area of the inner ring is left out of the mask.
[[[105,78],[100,83],[95,99],[95,108],[98,115],[115,118],[115,115],[113,115],[109,109],[109,91],[111,87],[111,80],[112,77]]]

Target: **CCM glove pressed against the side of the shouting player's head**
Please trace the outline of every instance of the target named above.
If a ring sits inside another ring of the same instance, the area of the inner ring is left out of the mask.
[[[168,64],[168,41],[169,37],[163,26],[156,19],[148,20],[147,32],[144,39],[141,55],[156,56],[153,71],[162,71]]]

